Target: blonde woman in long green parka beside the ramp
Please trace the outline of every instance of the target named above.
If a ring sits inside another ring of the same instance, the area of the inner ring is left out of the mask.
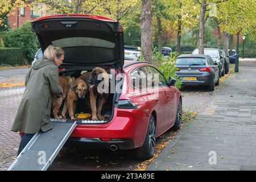
[[[62,96],[58,67],[63,59],[63,49],[49,46],[44,51],[44,57],[35,61],[26,76],[26,89],[11,127],[11,131],[24,132],[18,155],[38,131],[52,129],[52,96]]]

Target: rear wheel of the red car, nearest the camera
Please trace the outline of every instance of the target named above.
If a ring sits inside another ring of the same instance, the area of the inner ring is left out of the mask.
[[[156,140],[156,125],[155,125],[155,119],[151,115],[143,146],[139,148],[135,148],[135,158],[139,160],[151,159],[155,154],[155,140]]]

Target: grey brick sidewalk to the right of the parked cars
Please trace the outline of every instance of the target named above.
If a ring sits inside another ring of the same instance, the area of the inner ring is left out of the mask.
[[[256,60],[242,60],[207,102],[147,170],[256,170]]]

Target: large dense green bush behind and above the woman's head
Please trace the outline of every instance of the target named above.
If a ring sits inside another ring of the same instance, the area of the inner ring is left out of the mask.
[[[22,48],[24,58],[32,61],[39,44],[36,35],[31,31],[30,22],[24,23],[22,27],[7,31],[5,46]]]

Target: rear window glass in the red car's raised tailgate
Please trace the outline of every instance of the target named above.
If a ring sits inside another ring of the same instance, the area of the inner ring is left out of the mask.
[[[65,38],[54,40],[52,42],[53,46],[57,47],[103,47],[103,48],[114,48],[115,44],[107,40],[97,39],[97,38]]]

